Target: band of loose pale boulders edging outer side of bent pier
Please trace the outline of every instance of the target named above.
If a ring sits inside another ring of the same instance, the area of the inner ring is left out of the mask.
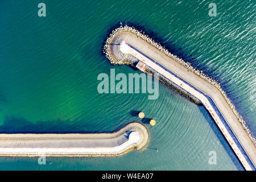
[[[142,31],[138,31],[133,27],[129,27],[129,26],[124,26],[124,27],[118,27],[115,28],[115,30],[112,31],[112,33],[109,35],[109,37],[106,39],[106,42],[104,44],[104,48],[103,48],[103,52],[105,53],[106,57],[108,58],[108,60],[110,61],[111,64],[118,64],[118,65],[122,65],[122,64],[134,64],[135,61],[138,61],[137,59],[135,59],[133,57],[133,59],[123,59],[123,60],[116,60],[112,54],[110,53],[110,43],[112,41],[112,39],[114,38],[115,35],[117,35],[119,32],[123,32],[123,31],[129,31],[129,32],[133,32],[135,35],[137,35],[139,38],[146,40],[148,43],[150,43],[153,47],[159,49],[159,51],[162,51],[163,53],[165,53],[167,56],[170,56],[172,59],[176,60],[178,63],[180,63],[181,65],[183,65],[185,68],[187,68],[189,71],[195,73],[196,75],[200,76],[201,78],[203,78],[204,80],[206,80],[207,82],[209,82],[210,84],[212,84],[214,87],[216,87],[218,90],[220,90],[220,93],[222,94],[222,96],[225,98],[226,102],[229,104],[230,108],[233,110],[234,114],[236,115],[238,121],[240,121],[243,129],[245,129],[246,133],[250,136],[251,140],[253,140],[254,145],[256,146],[256,139],[253,135],[253,133],[249,130],[249,128],[246,125],[246,122],[243,120],[242,116],[237,112],[235,106],[233,105],[232,101],[230,100],[230,98],[228,98],[228,96],[226,96],[226,93],[224,92],[224,90],[221,88],[221,85],[216,81],[213,80],[212,78],[210,78],[208,75],[205,75],[205,73],[203,73],[203,71],[199,71],[198,69],[192,67],[192,65],[188,62],[185,62],[183,59],[180,59],[179,57],[177,57],[176,55],[173,55],[171,52],[169,52],[166,48],[162,47],[159,43],[156,43],[153,39],[151,39],[150,37],[148,37],[148,35],[145,35],[145,32]]]

